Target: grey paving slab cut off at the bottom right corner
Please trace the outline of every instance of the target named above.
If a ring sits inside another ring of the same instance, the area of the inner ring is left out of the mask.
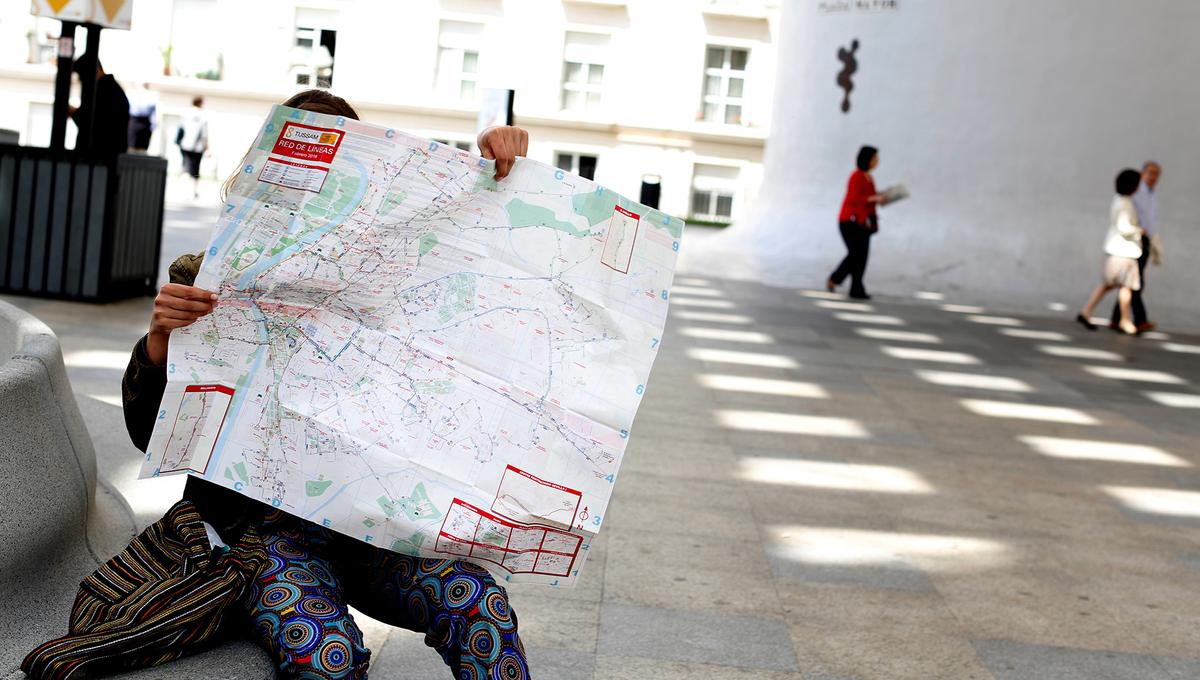
[[[1008,640],[977,640],[974,646],[996,680],[1200,678],[1200,660],[1042,646]]]

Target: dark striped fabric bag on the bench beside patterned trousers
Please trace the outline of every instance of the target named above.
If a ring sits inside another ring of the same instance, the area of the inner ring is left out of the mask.
[[[266,562],[252,526],[214,552],[196,507],[179,501],[83,579],[70,633],[31,651],[20,669],[35,680],[77,680],[208,649],[241,616]]]

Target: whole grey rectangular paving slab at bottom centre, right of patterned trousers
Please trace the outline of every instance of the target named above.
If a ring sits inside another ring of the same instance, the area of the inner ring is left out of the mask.
[[[605,602],[600,654],[799,670],[787,626],[778,619],[730,616]]]

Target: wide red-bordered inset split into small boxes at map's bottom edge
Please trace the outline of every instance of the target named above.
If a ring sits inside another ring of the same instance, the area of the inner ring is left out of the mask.
[[[433,550],[485,560],[510,573],[565,577],[582,543],[582,536],[512,522],[456,498]]]

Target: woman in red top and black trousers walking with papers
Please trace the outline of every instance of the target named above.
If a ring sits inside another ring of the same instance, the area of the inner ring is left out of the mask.
[[[850,296],[857,300],[870,300],[871,296],[863,288],[863,272],[866,270],[866,254],[871,247],[871,235],[880,228],[875,206],[884,200],[883,194],[875,192],[875,181],[871,180],[871,170],[880,164],[878,149],[874,146],[859,149],[857,164],[858,169],[850,175],[850,186],[846,187],[846,199],[841,203],[841,213],[838,215],[838,228],[841,229],[841,240],[846,242],[848,253],[838,269],[829,275],[826,288],[833,293],[848,275]]]

